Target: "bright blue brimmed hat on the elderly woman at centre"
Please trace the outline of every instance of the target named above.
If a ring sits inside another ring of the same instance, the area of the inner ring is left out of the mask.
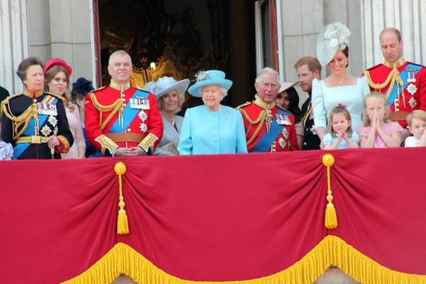
[[[194,97],[202,97],[198,90],[214,84],[229,90],[231,89],[232,81],[225,79],[225,73],[220,70],[202,70],[195,75],[195,84],[188,89],[188,92]]]

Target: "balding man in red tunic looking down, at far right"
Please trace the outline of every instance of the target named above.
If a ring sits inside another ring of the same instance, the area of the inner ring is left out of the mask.
[[[371,91],[388,99],[392,121],[406,126],[405,118],[415,109],[426,110],[426,68],[403,58],[403,40],[396,28],[385,28],[380,35],[385,62],[364,72]],[[410,135],[408,129],[403,139]]]

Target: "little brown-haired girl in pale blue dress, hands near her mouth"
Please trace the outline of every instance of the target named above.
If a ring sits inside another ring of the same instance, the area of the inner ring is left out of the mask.
[[[330,112],[327,130],[322,139],[324,150],[359,148],[359,136],[351,127],[351,114],[342,104]]]

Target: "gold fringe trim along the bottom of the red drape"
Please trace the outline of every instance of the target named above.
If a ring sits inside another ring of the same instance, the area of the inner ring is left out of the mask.
[[[112,283],[123,273],[139,284],[300,284],[314,283],[330,266],[339,267],[351,278],[363,284],[426,283],[426,275],[392,271],[364,256],[337,236],[326,236],[312,251],[284,271],[253,280],[226,282],[190,281],[176,278],[155,267],[151,261],[130,246],[119,243],[87,271],[63,283]]]

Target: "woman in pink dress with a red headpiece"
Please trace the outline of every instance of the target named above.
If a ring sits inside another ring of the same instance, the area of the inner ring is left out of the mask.
[[[80,112],[77,106],[70,102],[67,94],[71,72],[72,68],[60,58],[53,58],[45,64],[45,91],[59,94],[65,98],[64,106],[68,124],[70,124],[72,136],[74,136],[74,143],[70,147],[70,151],[62,153],[62,159],[84,158],[86,152]]]

